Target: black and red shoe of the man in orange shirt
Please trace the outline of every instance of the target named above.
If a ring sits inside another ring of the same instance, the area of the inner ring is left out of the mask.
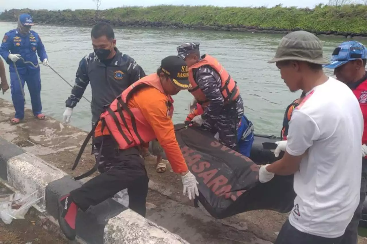
[[[78,207],[73,202],[70,194],[61,197],[58,206],[58,222],[62,233],[69,240],[75,240],[75,221]]]

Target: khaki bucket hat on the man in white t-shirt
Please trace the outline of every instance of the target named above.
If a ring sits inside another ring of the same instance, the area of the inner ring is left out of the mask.
[[[328,64],[323,58],[323,45],[314,34],[299,30],[281,38],[275,57],[268,63],[286,60],[305,61],[314,64]]]

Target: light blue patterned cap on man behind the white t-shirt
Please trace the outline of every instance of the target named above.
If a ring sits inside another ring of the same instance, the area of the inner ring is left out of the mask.
[[[336,69],[356,59],[367,59],[367,48],[358,41],[345,41],[334,49],[331,63],[324,65],[324,68]]]

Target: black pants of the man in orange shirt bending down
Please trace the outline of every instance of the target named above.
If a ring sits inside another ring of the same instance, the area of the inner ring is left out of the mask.
[[[101,139],[102,137],[95,138],[98,150],[101,147]],[[90,206],[97,205],[127,188],[129,208],[145,217],[149,178],[139,150],[117,150],[112,139],[104,136],[101,156],[111,167],[70,192],[72,200],[81,210],[86,211]]]

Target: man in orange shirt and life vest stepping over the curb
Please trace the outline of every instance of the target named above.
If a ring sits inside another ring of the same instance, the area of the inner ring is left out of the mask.
[[[101,114],[94,143],[99,155],[113,167],[60,199],[58,221],[68,239],[76,236],[78,208],[86,211],[126,188],[129,208],[145,217],[149,178],[138,146],[156,138],[172,170],[181,175],[184,195],[189,199],[199,196],[198,183],[188,170],[170,116],[170,96],[191,88],[188,76],[186,62],[168,56],[161,61],[157,73],[130,85]]]

